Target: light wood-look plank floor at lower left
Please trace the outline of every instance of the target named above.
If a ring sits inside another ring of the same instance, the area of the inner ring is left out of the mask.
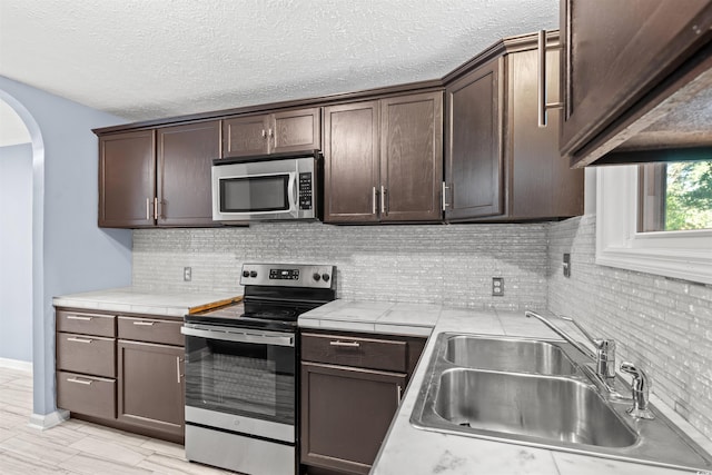
[[[0,367],[0,474],[226,474],[187,462],[181,445],[69,419],[28,426],[32,375]]]

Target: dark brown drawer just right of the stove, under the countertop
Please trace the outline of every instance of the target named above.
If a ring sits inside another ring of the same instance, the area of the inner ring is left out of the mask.
[[[407,345],[390,339],[301,334],[301,359],[405,373]]]

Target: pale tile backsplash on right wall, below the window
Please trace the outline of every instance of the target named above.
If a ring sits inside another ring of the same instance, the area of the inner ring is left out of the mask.
[[[552,224],[548,236],[550,309],[613,337],[619,362],[639,363],[653,393],[712,438],[712,287],[595,265],[595,216]]]

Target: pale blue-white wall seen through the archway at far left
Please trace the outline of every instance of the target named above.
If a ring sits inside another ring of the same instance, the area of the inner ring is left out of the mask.
[[[0,147],[0,358],[32,360],[32,146]]]

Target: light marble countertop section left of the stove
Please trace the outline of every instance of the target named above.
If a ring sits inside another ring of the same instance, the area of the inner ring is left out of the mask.
[[[239,297],[236,293],[190,293],[147,290],[137,287],[119,287],[55,297],[56,307],[87,310],[123,311],[130,314],[180,317],[191,309],[227,304]]]

